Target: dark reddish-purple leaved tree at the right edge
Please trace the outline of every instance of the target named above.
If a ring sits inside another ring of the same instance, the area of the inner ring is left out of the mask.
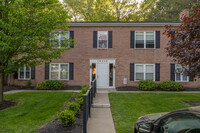
[[[166,26],[164,34],[171,38],[166,50],[175,62],[186,66],[186,75],[200,77],[200,6],[194,6],[193,15],[182,20],[179,27]]]

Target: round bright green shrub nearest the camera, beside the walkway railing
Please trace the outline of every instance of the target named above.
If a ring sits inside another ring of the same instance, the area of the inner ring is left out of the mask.
[[[65,126],[72,126],[75,123],[74,112],[65,109],[58,115],[58,120],[62,122]]]

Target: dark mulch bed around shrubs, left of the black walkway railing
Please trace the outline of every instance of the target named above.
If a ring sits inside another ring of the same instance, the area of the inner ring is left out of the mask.
[[[70,99],[69,102],[75,101],[76,96]],[[67,103],[65,104],[65,107]],[[64,109],[63,109],[64,110]],[[83,132],[83,108],[76,115],[75,124],[71,127],[65,127],[58,118],[46,123],[40,128],[37,133],[82,133]]]

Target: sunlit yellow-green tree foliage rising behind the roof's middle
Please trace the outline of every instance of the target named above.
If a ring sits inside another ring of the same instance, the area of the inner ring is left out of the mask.
[[[135,0],[64,0],[73,21],[135,20]]]

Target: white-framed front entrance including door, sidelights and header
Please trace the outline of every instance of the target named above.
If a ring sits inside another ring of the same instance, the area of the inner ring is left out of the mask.
[[[97,88],[115,87],[115,60],[90,60],[90,81],[97,79]]]

